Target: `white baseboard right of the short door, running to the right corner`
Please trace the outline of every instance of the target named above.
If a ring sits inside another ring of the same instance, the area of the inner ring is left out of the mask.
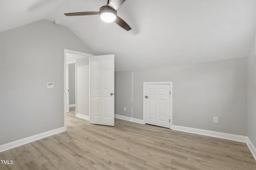
[[[222,133],[222,132],[216,132],[216,131],[208,131],[208,130],[203,130],[203,129],[195,129],[195,128],[191,128],[191,127],[172,125],[172,130],[194,133],[194,134],[198,134],[198,135],[205,135],[205,136],[210,136],[210,137],[217,137],[217,138],[221,138],[221,139],[228,139],[228,140],[238,141],[238,142],[243,142],[243,143],[246,143],[248,141],[247,140],[248,137],[246,137],[246,136],[233,135],[233,134],[229,134],[229,133]]]

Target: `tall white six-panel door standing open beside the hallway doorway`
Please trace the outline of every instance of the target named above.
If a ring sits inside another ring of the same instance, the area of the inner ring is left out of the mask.
[[[114,126],[114,55],[91,57],[90,121]]]

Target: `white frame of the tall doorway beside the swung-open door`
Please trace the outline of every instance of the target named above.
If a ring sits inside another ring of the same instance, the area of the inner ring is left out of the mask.
[[[69,50],[69,49],[64,49],[64,128],[66,130],[66,92],[67,92],[67,77],[66,77],[66,74],[67,74],[67,64],[66,64],[66,61],[67,61],[67,53],[71,53],[71,54],[77,54],[77,55],[83,55],[85,57],[89,57],[89,117],[90,117],[90,57],[92,57],[93,55],[91,54],[87,54],[87,53],[82,53],[82,52],[79,52],[79,51],[73,51],[73,50]],[[77,95],[76,95],[77,96]],[[77,103],[76,103],[77,104]],[[89,123],[90,123],[90,119],[89,119]]]

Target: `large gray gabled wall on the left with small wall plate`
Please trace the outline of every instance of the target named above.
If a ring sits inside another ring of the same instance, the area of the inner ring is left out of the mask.
[[[64,126],[65,48],[93,53],[47,20],[0,33],[0,145]]]

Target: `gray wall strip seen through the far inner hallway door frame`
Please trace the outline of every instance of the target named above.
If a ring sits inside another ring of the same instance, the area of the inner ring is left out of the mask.
[[[76,64],[69,64],[69,104],[76,104]]]

